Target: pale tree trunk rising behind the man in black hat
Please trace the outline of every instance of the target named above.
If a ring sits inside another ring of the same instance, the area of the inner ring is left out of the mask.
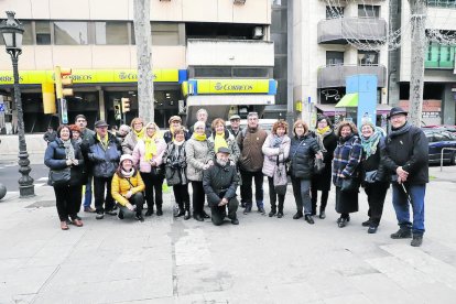
[[[411,75],[409,98],[409,121],[421,127],[423,87],[424,87],[424,55],[426,51],[426,13],[425,0],[409,0],[411,13]]]

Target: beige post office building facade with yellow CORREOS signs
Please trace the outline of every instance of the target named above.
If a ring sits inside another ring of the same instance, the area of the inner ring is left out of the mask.
[[[56,117],[43,113],[41,89],[55,66],[73,69],[69,122],[84,113],[89,126],[119,124],[121,98],[131,101],[127,122],[138,116],[133,1],[1,1],[7,10],[25,28],[19,68],[26,132],[55,126]],[[150,14],[160,127],[177,113],[192,123],[199,107],[226,118],[275,104],[270,0],[151,0]],[[14,126],[8,54],[0,56],[0,95],[3,122]]]

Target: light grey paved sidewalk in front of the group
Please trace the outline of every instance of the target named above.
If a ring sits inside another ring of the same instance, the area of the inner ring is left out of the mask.
[[[421,248],[392,240],[398,229],[388,194],[376,235],[361,227],[367,203],[349,225],[238,213],[240,225],[173,219],[137,222],[80,213],[85,226],[59,230],[53,191],[0,200],[0,303],[454,303],[456,167],[432,167]],[[265,191],[268,189],[267,183]],[[268,193],[265,192],[265,206]],[[41,207],[39,207],[41,206]],[[207,209],[207,207],[206,207]]]

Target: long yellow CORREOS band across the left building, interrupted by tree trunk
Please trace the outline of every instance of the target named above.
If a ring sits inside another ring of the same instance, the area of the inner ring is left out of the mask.
[[[178,83],[178,69],[153,69],[155,83]],[[73,69],[74,84],[100,84],[100,83],[135,83],[138,72],[135,69]],[[0,70],[0,85],[14,83],[12,70]],[[19,83],[34,85],[54,83],[54,70],[21,70]]]

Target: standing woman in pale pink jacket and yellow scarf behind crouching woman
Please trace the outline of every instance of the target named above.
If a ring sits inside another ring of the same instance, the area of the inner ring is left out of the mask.
[[[153,206],[156,205],[156,215],[162,216],[163,205],[163,180],[162,170],[163,153],[166,150],[166,143],[155,122],[149,122],[144,128],[144,135],[140,139],[133,150],[133,163],[139,165],[142,181],[145,184],[145,200],[148,211],[145,216],[153,215]],[[154,200],[155,191],[155,200]]]

